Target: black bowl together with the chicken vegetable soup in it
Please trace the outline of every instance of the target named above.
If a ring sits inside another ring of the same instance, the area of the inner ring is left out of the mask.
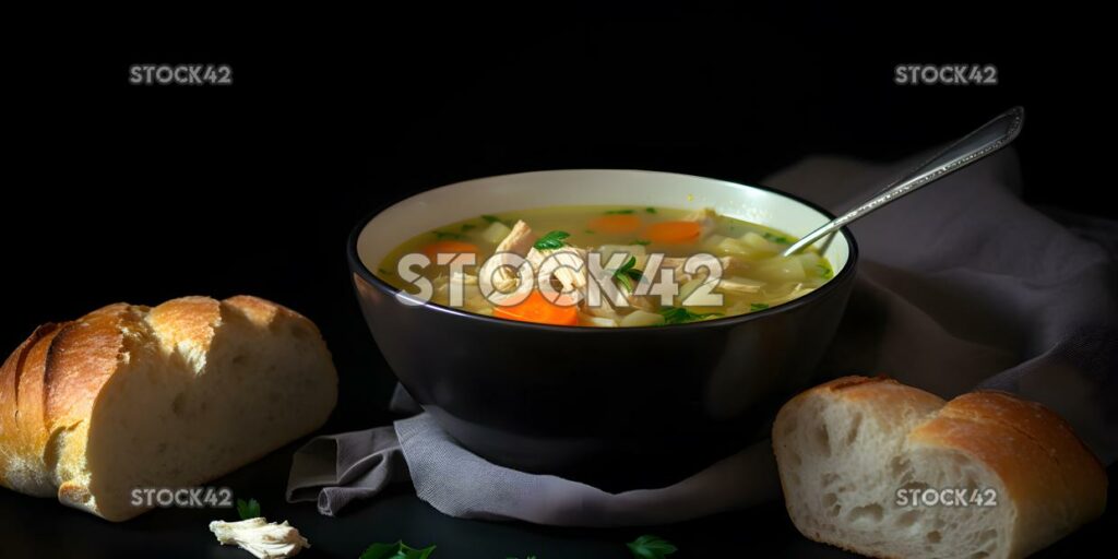
[[[647,486],[764,436],[853,286],[849,230],[775,190],[637,170],[489,177],[362,220],[349,263],[408,394],[492,462]]]

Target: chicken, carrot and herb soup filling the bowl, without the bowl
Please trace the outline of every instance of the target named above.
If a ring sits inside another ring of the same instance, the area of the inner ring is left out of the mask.
[[[417,277],[426,280],[432,302],[479,314],[557,325],[652,326],[760,312],[823,285],[833,271],[814,248],[779,256],[795,240],[784,231],[710,209],[549,207],[477,216],[417,235],[389,253],[376,274],[409,294],[423,293]],[[499,292],[495,297],[484,296],[477,274],[483,271],[481,264],[498,252],[525,258],[532,272],[546,267],[543,262],[553,257],[569,268],[555,272],[552,287],[577,297],[552,301],[538,287],[530,292],[524,287],[527,296],[519,302],[502,300],[506,290],[523,282],[511,267],[491,274]],[[477,264],[455,275],[449,265],[435,262],[440,253],[472,253]],[[601,263],[622,254],[614,260],[617,266],[607,267],[604,280],[617,290],[618,300],[591,304],[587,296],[587,290],[593,288],[594,280],[588,276],[593,268],[575,268],[587,263],[593,253],[600,255]],[[409,274],[399,263],[416,254],[432,263],[411,266],[414,274]],[[688,258],[698,262],[695,255],[710,255],[707,262],[716,260],[719,269],[686,265]],[[664,269],[672,272],[671,282],[664,281]],[[458,305],[451,304],[452,282],[462,285]],[[662,295],[665,288],[676,294]],[[705,295],[720,296],[721,301],[704,300]]]

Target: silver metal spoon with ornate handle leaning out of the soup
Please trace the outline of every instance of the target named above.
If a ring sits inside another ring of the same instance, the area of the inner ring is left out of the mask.
[[[948,174],[951,174],[964,167],[978,161],[991,153],[994,153],[1010,144],[1017,134],[1021,133],[1021,125],[1025,120],[1025,110],[1015,106],[1002,113],[993,121],[963,136],[936,157],[916,168],[911,173],[898,182],[889,184],[873,195],[873,198],[858,205],[854,209],[846,211],[842,216],[828,221],[818,229],[805,235],[802,239],[786,248],[780,256],[792,256],[804,247],[811,246],[821,237],[837,231],[851,221],[865,217],[873,210],[896,201],[904,195],[915,192]]]

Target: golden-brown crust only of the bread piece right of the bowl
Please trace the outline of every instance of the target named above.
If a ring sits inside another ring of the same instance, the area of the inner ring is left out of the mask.
[[[1106,508],[1107,475],[1102,464],[1067,421],[1044,406],[991,390],[944,401],[883,377],[844,377],[789,400],[773,429],[789,515],[797,529],[813,540],[863,555],[890,556],[874,546],[844,541],[830,530],[821,530],[818,523],[804,518],[808,509],[794,506],[789,498],[789,479],[798,479],[798,461],[807,459],[798,455],[788,459],[796,454],[790,451],[795,445],[790,434],[811,419],[805,416],[811,413],[807,410],[818,409],[807,402],[819,398],[860,413],[870,410],[884,425],[915,425],[900,440],[906,452],[925,453],[922,456],[958,453],[993,472],[1001,486],[998,501],[1015,511],[1012,525],[1004,527],[1008,544],[999,549],[998,556],[1033,553],[1099,517]],[[885,528],[877,537],[881,542],[890,540]]]

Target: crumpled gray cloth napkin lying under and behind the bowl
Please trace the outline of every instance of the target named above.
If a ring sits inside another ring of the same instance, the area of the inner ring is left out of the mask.
[[[767,184],[839,211],[925,155],[892,165],[813,158]],[[950,398],[998,388],[1063,415],[1106,463],[1118,457],[1118,281],[1114,222],[1055,219],[1018,199],[1004,151],[852,226],[858,283],[819,377],[884,373]],[[408,407],[398,394],[397,407]],[[402,402],[402,404],[401,404]],[[768,442],[666,487],[607,493],[470,453],[426,414],[318,437],[296,452],[288,501],[334,515],[410,477],[459,518],[552,525],[676,522],[779,494]]]

